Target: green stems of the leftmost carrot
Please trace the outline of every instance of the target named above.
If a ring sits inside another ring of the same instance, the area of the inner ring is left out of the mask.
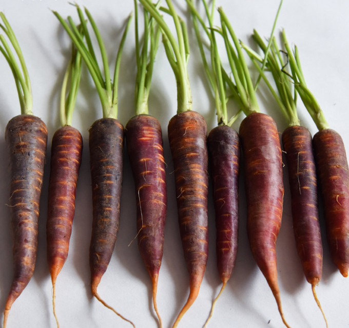
[[[0,41],[3,44],[3,46],[0,45],[0,51],[4,55],[5,59],[7,60],[8,64],[10,65],[10,68],[12,70],[12,74],[16,83],[17,87],[17,93],[18,98],[20,99],[21,104],[21,114],[30,114],[32,115],[32,108],[33,108],[33,98],[31,93],[31,84],[29,80],[29,74],[27,70],[26,63],[24,61],[24,57],[22,54],[22,50],[20,48],[20,45],[18,44],[18,41],[14,35],[14,32],[7,21],[4,13],[0,12],[0,17],[4,22],[4,25],[0,23],[1,29],[5,32],[8,39],[10,40],[18,59],[20,60],[22,71],[20,67],[17,64],[16,59],[13,56],[13,52],[11,48],[9,47],[9,44],[7,43],[5,37],[3,34],[0,34]]]

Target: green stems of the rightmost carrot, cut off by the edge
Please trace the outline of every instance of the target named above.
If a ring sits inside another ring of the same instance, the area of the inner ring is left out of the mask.
[[[328,123],[325,119],[325,116],[323,115],[319,103],[305,84],[297,46],[295,46],[294,51],[291,50],[286,39],[285,30],[282,30],[282,39],[285,44],[288,62],[292,74],[289,74],[285,70],[283,70],[283,73],[293,80],[295,88],[297,89],[297,92],[299,93],[299,96],[301,97],[306,110],[311,115],[318,129],[328,129]]]

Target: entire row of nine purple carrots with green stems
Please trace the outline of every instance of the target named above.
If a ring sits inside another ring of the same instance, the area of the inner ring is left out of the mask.
[[[89,257],[92,295],[129,321],[105,303],[97,291],[111,259],[119,230],[125,133],[137,200],[138,246],[152,281],[153,307],[159,318],[159,326],[163,326],[156,295],[167,208],[166,165],[160,123],[148,114],[152,69],[162,38],[178,87],[178,114],[168,124],[168,137],[175,167],[180,233],[190,277],[188,300],[172,327],[179,325],[183,315],[196,300],[206,268],[209,176],[214,190],[217,264],[223,283],[221,292],[234,269],[238,247],[240,149],[244,156],[247,233],[251,251],[272,290],[282,320],[289,327],[281,307],[275,246],[281,226],[284,194],[282,150],[275,121],[259,110],[256,89],[262,83],[260,79],[265,81],[289,122],[289,127],[282,134],[282,144],[289,174],[296,245],[304,275],[312,285],[320,308],[315,292],[322,273],[317,181],[322,190],[326,236],[332,259],[344,277],[349,268],[349,169],[343,141],[338,133],[329,129],[319,104],[305,83],[298,50],[290,49],[284,31],[283,50],[280,50],[273,35],[276,24],[268,44],[254,31],[254,40],[264,53],[264,56],[260,56],[239,42],[221,7],[218,9],[221,25],[214,25],[215,1],[209,8],[206,1],[202,0],[206,13],[206,17],[202,17],[194,2],[186,0],[192,17],[190,28],[195,30],[203,67],[216,100],[218,126],[207,136],[205,119],[192,111],[187,73],[189,42],[185,23],[170,0],[166,0],[167,8],[162,7],[160,2],[139,2],[144,11],[144,35],[142,38],[139,35],[139,9],[135,1],[136,115],[129,120],[125,129],[117,119],[118,77],[131,16],[125,27],[111,80],[105,46],[90,12],[75,5],[80,17],[79,25],[75,25],[71,17],[65,21],[59,13],[53,12],[73,43],[72,57],[61,93],[62,127],[52,139],[48,196],[47,259],[53,284],[53,311],[57,326],[59,321],[55,313],[55,282],[68,256],[83,148],[80,132],[71,126],[83,62],[96,86],[103,109],[103,118],[89,128],[93,203]],[[177,39],[163,18],[165,14],[173,19]],[[1,13],[0,16],[4,23],[0,27],[12,43],[22,68],[21,71],[2,35],[0,41],[3,46],[0,50],[13,72],[22,112],[10,120],[5,132],[11,170],[8,205],[14,242],[14,275],[5,306],[5,328],[11,305],[29,283],[34,270],[47,129],[45,123],[33,115],[31,86],[24,57],[5,15]],[[99,68],[88,24],[100,47],[104,74]],[[224,40],[231,74],[222,65],[217,38]],[[255,85],[251,81],[243,50],[259,71]],[[276,88],[269,82],[269,76],[274,80]],[[314,138],[306,127],[300,125],[297,97],[301,98],[319,129]],[[230,98],[237,102],[239,112],[228,118],[227,102]],[[246,118],[237,133],[230,126],[241,113]],[[218,297],[220,295],[221,293]],[[216,301],[217,298],[212,311]],[[212,312],[210,317],[211,315]]]

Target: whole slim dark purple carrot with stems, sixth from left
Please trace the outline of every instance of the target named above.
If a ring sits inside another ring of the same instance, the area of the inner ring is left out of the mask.
[[[205,327],[211,319],[215,304],[221,296],[232,271],[234,270],[238,250],[238,228],[239,228],[239,160],[240,140],[238,133],[231,129],[230,125],[239,116],[227,118],[227,100],[225,93],[225,82],[222,78],[221,60],[214,32],[213,15],[210,14],[208,5],[203,0],[210,31],[203,24],[193,2],[187,0],[190,8],[193,27],[199,44],[203,65],[212,92],[216,100],[217,121],[219,126],[215,127],[207,137],[207,149],[211,168],[212,187],[214,190],[214,204],[216,212],[216,253],[219,277],[223,283],[221,291],[212,302],[211,312],[206,320]],[[211,69],[207,64],[203,40],[200,36],[198,21],[201,23],[210,42]]]

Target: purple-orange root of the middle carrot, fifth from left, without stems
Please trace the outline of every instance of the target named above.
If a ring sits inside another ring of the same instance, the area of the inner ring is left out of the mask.
[[[186,111],[172,117],[168,138],[175,167],[178,218],[190,294],[173,327],[195,301],[208,255],[207,127],[202,115]]]

